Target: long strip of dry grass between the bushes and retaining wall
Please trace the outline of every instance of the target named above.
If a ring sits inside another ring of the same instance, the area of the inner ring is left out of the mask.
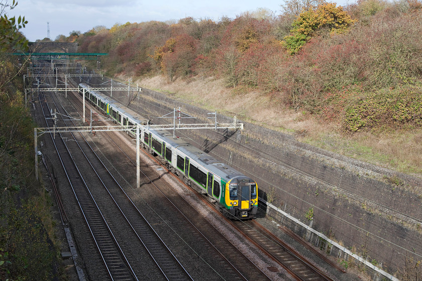
[[[418,177],[422,174],[422,130],[344,134],[338,123],[321,122],[258,92],[239,93],[239,89],[226,88],[222,80],[205,78],[169,83],[164,77],[155,76],[137,82],[210,111],[236,115],[248,122],[294,134],[299,141],[329,151]]]

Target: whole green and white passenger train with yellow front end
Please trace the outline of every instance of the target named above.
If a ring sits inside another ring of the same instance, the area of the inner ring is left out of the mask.
[[[221,163],[212,156],[174,138],[166,130],[154,130],[146,125],[146,119],[107,95],[90,90],[79,84],[85,98],[123,126],[140,125],[141,144],[156,157],[164,160],[169,170],[199,193],[209,196],[210,201],[232,219],[254,218],[258,210],[257,184],[251,178]],[[129,130],[135,137],[135,130]]]

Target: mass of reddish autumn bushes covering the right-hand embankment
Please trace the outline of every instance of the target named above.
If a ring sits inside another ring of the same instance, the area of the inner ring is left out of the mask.
[[[317,7],[318,3],[288,1],[286,13],[277,19],[245,13],[218,23],[193,18],[172,25],[127,23],[79,40],[83,50],[109,52],[102,66],[111,74],[130,69],[127,74],[141,76],[161,70],[170,81],[196,74],[216,76],[224,78],[227,87],[255,88],[270,94],[275,103],[321,114],[324,120],[343,116],[348,131],[381,120],[393,126],[418,125],[412,121],[417,113],[406,111],[412,100],[403,98],[381,116],[377,114],[382,110],[369,112],[369,108],[380,109],[384,101],[365,92],[388,92],[385,89],[420,81],[420,1],[362,0],[346,7],[348,12],[335,4]],[[296,4],[306,10],[293,20]]]

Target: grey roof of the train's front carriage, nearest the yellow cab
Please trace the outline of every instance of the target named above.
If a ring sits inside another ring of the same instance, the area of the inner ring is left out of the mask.
[[[179,150],[180,152],[183,152],[188,158],[206,167],[206,169],[208,169],[211,173],[221,177],[222,179],[225,179],[226,181],[229,181],[230,179],[233,179],[237,176],[245,176],[239,171],[210,156],[209,154],[186,143],[182,138],[173,138],[173,133],[169,131],[150,131],[154,131],[154,134],[163,137],[163,140],[167,144]]]

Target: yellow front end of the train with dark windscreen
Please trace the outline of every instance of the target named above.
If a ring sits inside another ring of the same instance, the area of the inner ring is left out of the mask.
[[[253,218],[258,210],[257,184],[248,177],[236,177],[226,184],[225,201],[231,216]]]

